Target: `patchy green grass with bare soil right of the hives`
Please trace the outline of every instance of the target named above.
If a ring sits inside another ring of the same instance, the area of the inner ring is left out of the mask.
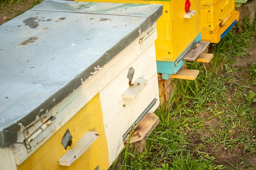
[[[256,62],[232,66],[235,57],[248,57],[255,48],[255,35],[256,23],[245,21],[215,45],[209,64],[188,63],[200,74],[195,81],[177,81],[168,107],[155,112],[160,123],[144,152],[134,156],[131,149],[110,170],[255,169],[249,161],[256,154]]]

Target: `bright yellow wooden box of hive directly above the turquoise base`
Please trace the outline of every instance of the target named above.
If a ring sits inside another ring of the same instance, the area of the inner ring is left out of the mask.
[[[191,1],[191,10],[196,14],[184,18],[185,0],[155,1],[155,0],[75,0],[85,2],[105,3],[148,3],[162,4],[163,15],[157,20],[156,58],[157,61],[174,62],[201,32],[200,0]]]

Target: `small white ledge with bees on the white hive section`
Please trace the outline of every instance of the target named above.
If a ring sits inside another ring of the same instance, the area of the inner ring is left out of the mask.
[[[129,86],[128,89],[123,93],[123,99],[135,99],[147,84],[148,80],[146,79],[135,80],[131,86]]]

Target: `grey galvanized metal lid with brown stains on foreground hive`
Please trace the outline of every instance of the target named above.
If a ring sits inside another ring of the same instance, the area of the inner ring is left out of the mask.
[[[93,76],[162,5],[45,0],[0,26],[0,147]]]

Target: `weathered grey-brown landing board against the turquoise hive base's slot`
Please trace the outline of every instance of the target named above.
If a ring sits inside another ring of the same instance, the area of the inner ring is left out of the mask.
[[[198,56],[208,47],[210,42],[201,41],[198,42],[193,49],[191,49],[184,57],[183,61],[195,61]]]

